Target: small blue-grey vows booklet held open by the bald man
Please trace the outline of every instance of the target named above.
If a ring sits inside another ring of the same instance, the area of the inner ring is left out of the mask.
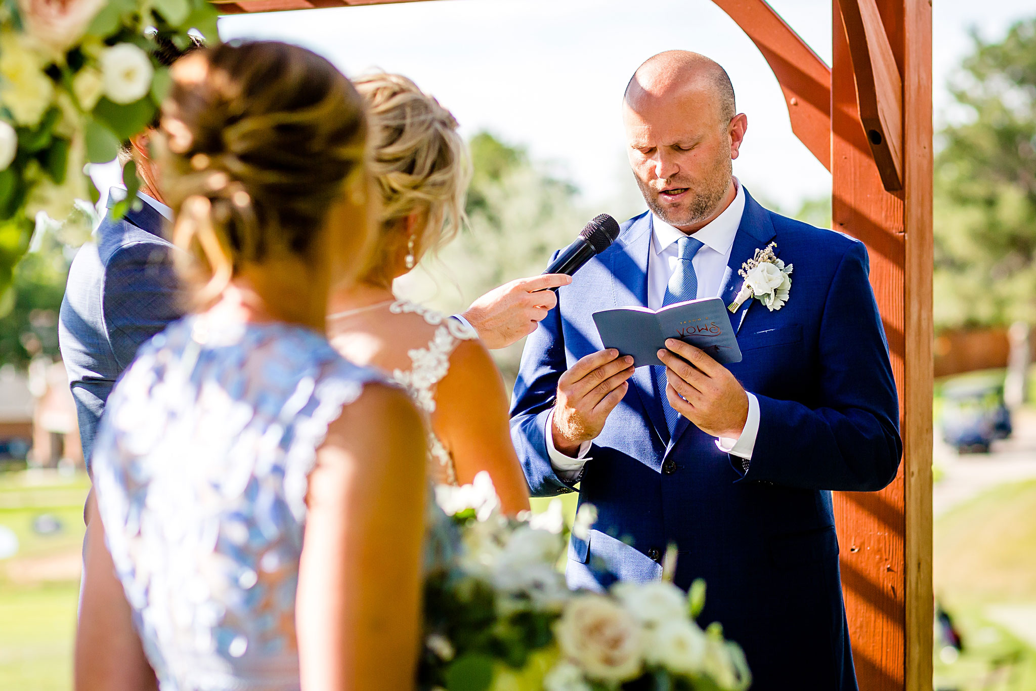
[[[680,339],[703,350],[717,363],[741,362],[741,348],[719,297],[673,303],[657,312],[645,307],[621,307],[594,313],[605,348],[633,355],[633,366],[661,365],[658,351],[666,339]]]

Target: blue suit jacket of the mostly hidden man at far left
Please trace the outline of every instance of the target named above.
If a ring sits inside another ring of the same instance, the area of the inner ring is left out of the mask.
[[[109,212],[68,269],[58,339],[90,468],[105,402],[137,348],[183,314],[166,219],[147,203],[116,221]]]

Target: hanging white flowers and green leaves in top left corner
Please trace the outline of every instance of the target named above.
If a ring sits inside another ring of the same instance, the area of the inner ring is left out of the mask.
[[[64,221],[97,200],[83,169],[143,131],[169,88],[156,39],[217,40],[205,0],[8,0],[0,5],[0,294],[36,215]],[[123,179],[135,199],[135,167]]]

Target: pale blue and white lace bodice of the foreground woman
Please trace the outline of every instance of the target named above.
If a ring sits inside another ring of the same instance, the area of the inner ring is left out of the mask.
[[[374,370],[285,324],[174,322],[108,402],[94,486],[162,691],[298,688],[308,476]]]

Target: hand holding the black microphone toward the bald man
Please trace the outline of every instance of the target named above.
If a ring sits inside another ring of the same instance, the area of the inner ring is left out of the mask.
[[[471,303],[461,316],[479,332],[487,348],[506,348],[536,330],[557,305],[553,290],[572,283],[564,273],[545,273],[505,283]]]

